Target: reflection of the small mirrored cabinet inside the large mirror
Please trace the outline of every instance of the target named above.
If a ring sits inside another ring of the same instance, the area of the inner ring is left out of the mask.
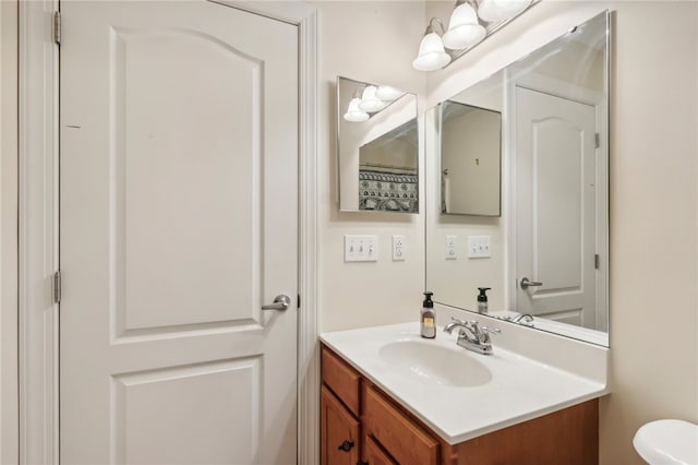
[[[441,108],[441,213],[500,216],[502,114],[460,102]]]

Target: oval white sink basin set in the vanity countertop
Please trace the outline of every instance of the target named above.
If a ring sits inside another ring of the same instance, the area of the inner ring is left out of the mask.
[[[452,349],[430,342],[390,342],[378,349],[378,356],[393,368],[429,384],[467,388],[492,380],[492,372],[484,365],[455,344]]]

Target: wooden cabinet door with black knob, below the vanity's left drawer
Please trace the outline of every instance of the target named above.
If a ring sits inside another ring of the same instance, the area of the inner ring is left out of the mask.
[[[356,465],[359,462],[359,421],[327,388],[321,390],[322,465]]]

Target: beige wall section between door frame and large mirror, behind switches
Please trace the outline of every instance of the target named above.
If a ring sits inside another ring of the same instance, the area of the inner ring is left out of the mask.
[[[424,3],[312,3],[320,20],[320,330],[416,320],[424,288],[424,204],[419,215],[339,213],[335,80],[339,74],[389,84],[423,99],[424,75],[411,63],[424,32]],[[348,234],[377,235],[378,262],[345,263],[344,235]],[[392,261],[392,235],[406,237],[404,262]]]

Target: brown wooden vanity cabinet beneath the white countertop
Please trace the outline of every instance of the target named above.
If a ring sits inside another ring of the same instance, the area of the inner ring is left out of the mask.
[[[323,465],[599,463],[598,400],[448,444],[324,345],[322,381]]]

